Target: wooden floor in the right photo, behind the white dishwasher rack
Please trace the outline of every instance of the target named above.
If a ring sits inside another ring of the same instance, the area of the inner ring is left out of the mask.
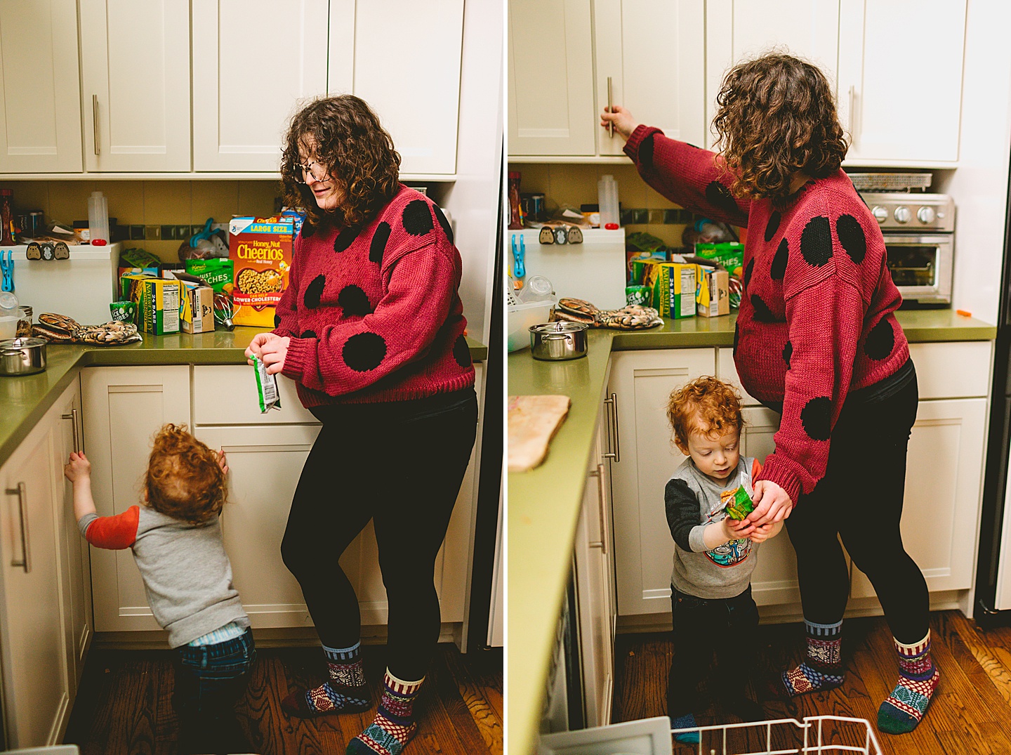
[[[843,661],[846,681],[842,687],[785,699],[780,694],[779,671],[801,660],[804,646],[803,625],[768,625],[758,629],[753,652],[758,653],[757,670],[750,691],[760,702],[768,720],[798,719],[805,716],[845,716],[870,722],[884,755],[972,755],[1011,753],[1011,628],[983,631],[958,611],[931,615],[934,662],[940,669],[940,686],[926,718],[907,735],[891,736],[878,732],[878,706],[888,696],[897,679],[897,663],[892,637],[884,619],[853,619],[844,625]],[[616,648],[614,721],[663,716],[670,667],[669,635],[622,635]],[[738,723],[725,714],[718,702],[701,688],[697,719],[701,726]],[[826,743],[864,745],[857,728],[840,728]],[[800,731],[790,727],[773,728],[772,744],[780,748],[799,748]],[[829,728],[825,730],[829,731]],[[750,730],[738,731],[728,740],[728,755],[765,752],[764,737]],[[702,752],[710,748],[722,753],[722,742],[703,740]],[[675,753],[700,752],[675,743]],[[874,752],[872,746],[870,752]]]

